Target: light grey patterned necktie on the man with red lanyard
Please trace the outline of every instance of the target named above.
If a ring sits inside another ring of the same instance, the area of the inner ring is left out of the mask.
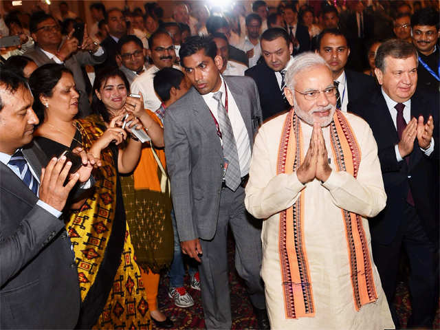
[[[217,100],[217,115],[219,117],[219,125],[221,129],[221,141],[223,143],[223,157],[228,160],[228,168],[226,168],[225,184],[232,191],[241,184],[241,173],[239,164],[239,153],[236,150],[234,132],[232,131],[232,124],[229,119],[229,115],[223,107],[221,102],[221,91],[212,96],[214,100]]]

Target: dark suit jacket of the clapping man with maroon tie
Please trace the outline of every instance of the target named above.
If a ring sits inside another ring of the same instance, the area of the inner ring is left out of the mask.
[[[395,144],[399,142],[397,130],[386,105],[381,89],[367,94],[358,102],[349,103],[349,111],[356,113],[371,126],[377,142],[380,165],[384,178],[386,207],[371,219],[372,238],[382,244],[391,243],[399,224],[404,219],[404,205],[411,188],[417,214],[430,239],[438,240],[439,222],[439,99],[434,94],[417,90],[411,98],[411,117],[429,115],[434,118],[434,152],[430,157],[419,148],[417,138],[410,157],[409,167],[405,161],[397,162]]]

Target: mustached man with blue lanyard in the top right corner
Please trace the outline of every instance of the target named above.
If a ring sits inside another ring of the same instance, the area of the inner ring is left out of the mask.
[[[423,8],[411,17],[412,43],[419,53],[419,86],[439,92],[440,56],[438,41],[439,12],[433,8]]]

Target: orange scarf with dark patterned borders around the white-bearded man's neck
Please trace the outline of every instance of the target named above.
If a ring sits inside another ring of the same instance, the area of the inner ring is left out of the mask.
[[[361,152],[353,130],[344,116],[336,110],[330,124],[330,139],[336,170],[357,177]],[[303,162],[303,133],[301,122],[292,109],[286,117],[278,151],[277,174],[293,173]],[[309,262],[303,234],[305,189],[294,205],[280,213],[279,254],[286,318],[313,317],[314,296],[309,274]],[[353,287],[353,303],[358,311],[362,305],[377,300],[371,260],[362,218],[359,214],[341,209],[345,225],[347,250]]]

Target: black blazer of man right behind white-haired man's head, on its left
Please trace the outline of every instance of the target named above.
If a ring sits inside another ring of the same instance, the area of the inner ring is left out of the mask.
[[[265,61],[247,69],[245,76],[253,78],[259,89],[263,120],[290,108],[289,103],[281,96],[274,70],[268,67]]]

